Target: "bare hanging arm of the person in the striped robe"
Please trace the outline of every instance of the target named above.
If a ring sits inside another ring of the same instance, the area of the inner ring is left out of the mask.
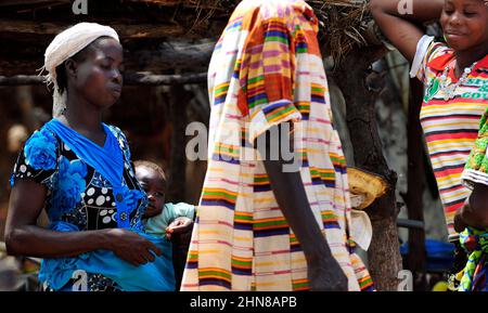
[[[262,135],[268,135],[268,132]],[[290,133],[281,132],[280,135],[290,141]],[[266,147],[258,146],[261,156],[268,155],[270,151],[270,140],[268,139],[266,143]],[[281,152],[281,147],[278,147]],[[274,197],[307,259],[310,288],[312,290],[347,290],[347,278],[333,258],[325,236],[310,209],[300,173],[299,171],[284,172],[285,164],[287,162],[283,160],[281,153],[279,160],[269,160],[264,157]]]

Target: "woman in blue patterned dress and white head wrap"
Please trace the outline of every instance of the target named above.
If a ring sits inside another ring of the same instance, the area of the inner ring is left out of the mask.
[[[102,122],[120,96],[114,29],[80,23],[46,51],[54,118],[20,153],[5,227],[9,253],[43,258],[46,290],[172,290],[170,249],[143,232],[147,199],[124,133]],[[50,225],[36,225],[46,209]]]

